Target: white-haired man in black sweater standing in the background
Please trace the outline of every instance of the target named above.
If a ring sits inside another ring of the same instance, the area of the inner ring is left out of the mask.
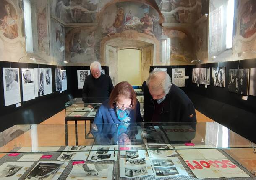
[[[91,63],[90,70],[91,74],[84,81],[83,97],[107,99],[114,88],[110,76],[101,73],[101,65],[97,61]]]

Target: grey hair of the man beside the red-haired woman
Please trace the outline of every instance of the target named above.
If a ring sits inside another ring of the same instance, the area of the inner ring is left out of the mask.
[[[162,75],[165,76],[162,76]],[[149,86],[149,83],[153,81],[153,88],[159,89],[162,88],[165,94],[168,94],[170,88],[172,86],[172,80],[168,73],[162,70],[154,70],[152,73],[149,74],[148,79],[146,80],[146,85]]]

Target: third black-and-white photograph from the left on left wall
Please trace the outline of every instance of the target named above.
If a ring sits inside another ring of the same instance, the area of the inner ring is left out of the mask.
[[[44,68],[34,68],[35,96],[43,96],[45,88]]]

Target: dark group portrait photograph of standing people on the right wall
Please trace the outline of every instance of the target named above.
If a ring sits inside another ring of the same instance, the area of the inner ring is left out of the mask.
[[[249,69],[230,69],[228,91],[248,95]]]

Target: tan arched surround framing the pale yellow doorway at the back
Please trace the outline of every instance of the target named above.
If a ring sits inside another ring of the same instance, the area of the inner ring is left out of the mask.
[[[105,65],[109,67],[110,77],[114,85],[119,82],[118,50],[123,49],[141,50],[142,83],[149,75],[149,67],[154,62],[159,61],[159,41],[135,30],[126,30],[114,36],[103,38],[101,41],[101,61],[105,62]],[[133,64],[130,63],[129,66],[133,67]]]

